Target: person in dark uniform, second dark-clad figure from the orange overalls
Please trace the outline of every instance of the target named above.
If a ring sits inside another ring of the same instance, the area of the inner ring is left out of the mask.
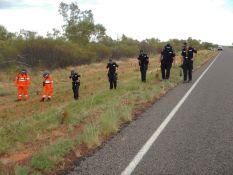
[[[116,70],[118,68],[118,64],[109,59],[109,63],[107,64],[108,69],[108,80],[110,84],[110,89],[116,89],[117,87],[117,73]]]

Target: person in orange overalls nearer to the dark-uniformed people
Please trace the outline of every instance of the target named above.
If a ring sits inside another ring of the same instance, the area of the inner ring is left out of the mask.
[[[48,95],[48,101],[51,100],[52,97],[52,91],[53,91],[53,79],[51,77],[51,75],[48,72],[45,72],[43,74],[43,96],[42,99],[40,100],[41,102],[43,102],[46,98],[46,96]]]

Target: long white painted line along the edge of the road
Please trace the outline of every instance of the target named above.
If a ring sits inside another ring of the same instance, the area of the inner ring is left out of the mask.
[[[159,135],[162,133],[162,131],[165,129],[167,124],[170,122],[170,120],[174,117],[176,112],[179,110],[179,108],[182,106],[182,104],[185,102],[185,100],[188,98],[188,96],[191,94],[193,89],[197,86],[199,81],[202,79],[202,77],[206,74],[206,72],[210,69],[210,67],[214,64],[216,59],[219,57],[220,54],[217,55],[217,57],[214,59],[214,61],[206,68],[206,70],[201,74],[201,76],[196,80],[196,82],[192,85],[192,87],[189,89],[189,91],[184,95],[184,97],[177,103],[177,105],[172,109],[172,111],[169,113],[169,115],[166,117],[166,119],[163,121],[163,123],[158,127],[158,129],[153,133],[153,135],[147,140],[145,145],[140,149],[140,151],[137,153],[137,155],[133,158],[133,160],[130,162],[130,164],[125,168],[125,170],[121,173],[121,175],[130,175],[134,169],[137,167],[139,162],[142,160],[144,155],[149,151],[152,144],[157,140]]]

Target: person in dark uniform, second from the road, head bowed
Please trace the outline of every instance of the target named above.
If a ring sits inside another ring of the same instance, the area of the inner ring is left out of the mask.
[[[161,73],[163,80],[168,80],[170,78],[170,70],[175,56],[176,55],[173,51],[172,46],[169,43],[166,44],[166,46],[164,46],[163,50],[161,51],[160,57]]]

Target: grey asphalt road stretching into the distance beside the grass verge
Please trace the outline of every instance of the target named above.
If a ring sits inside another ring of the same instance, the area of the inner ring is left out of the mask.
[[[120,175],[208,66],[194,73],[193,83],[171,90],[102,149],[78,160],[69,175]],[[233,174],[232,50],[220,53],[144,153],[131,174]]]

